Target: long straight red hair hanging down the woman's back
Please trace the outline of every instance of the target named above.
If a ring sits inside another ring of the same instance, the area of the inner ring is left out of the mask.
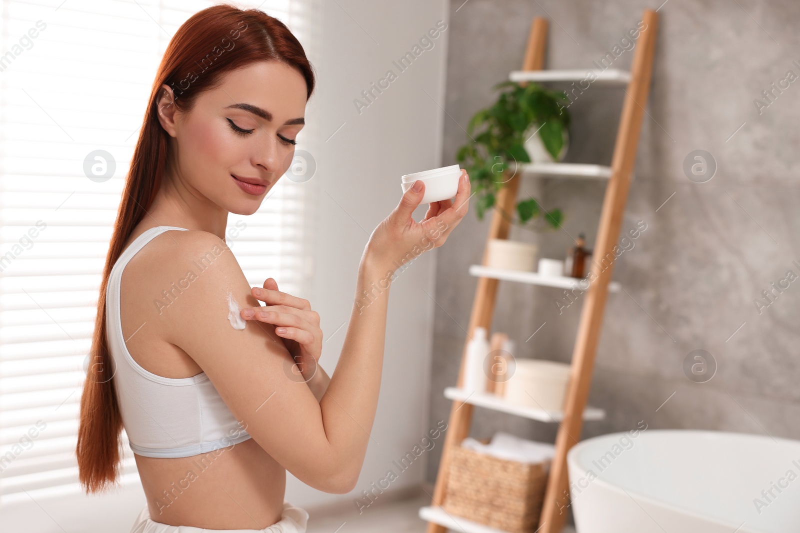
[[[220,4],[192,15],[178,28],[158,66],[103,268],[91,364],[81,396],[75,454],[78,456],[78,479],[87,493],[109,489],[119,475],[122,416],[110,375],[106,286],[111,268],[122,254],[128,237],[158,193],[170,157],[168,134],[156,113],[158,93],[166,83],[173,89],[176,109],[188,112],[198,95],[214,88],[224,74],[261,61],[294,66],[306,78],[306,99],[311,96],[314,69],[300,42],[283,22],[255,9],[242,10]]]

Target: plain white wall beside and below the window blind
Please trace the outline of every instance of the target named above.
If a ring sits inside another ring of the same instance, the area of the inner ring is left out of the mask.
[[[309,182],[315,185],[318,207],[316,270],[309,299],[322,316],[326,341],[321,364],[329,374],[342,348],[347,326],[339,326],[350,317],[358,260],[369,233],[400,200],[402,174],[442,165],[445,115],[439,105],[444,101],[449,28],[431,39],[433,47],[427,45],[430,50],[423,51],[406,71],[400,73],[392,62],[412,51],[438,21],[448,23],[446,6],[445,0],[380,7],[367,0],[324,2],[323,54],[314,64],[318,92],[309,104],[309,115],[321,117],[318,125],[308,127],[320,137],[314,150],[318,169],[314,183]],[[354,99],[370,83],[385,78],[387,70],[394,70],[398,78],[359,114]],[[417,210],[417,220],[425,209]],[[350,495],[325,494],[287,475],[286,499],[295,505],[354,504],[362,490],[378,483],[390,469],[398,479],[388,490],[422,482],[429,451],[422,452],[406,471],[392,462],[415,445],[422,447],[420,440],[431,429],[428,389],[436,304],[428,295],[434,296],[435,253],[424,253],[413,261],[390,289],[381,396],[356,489]],[[443,440],[439,436],[434,446],[441,446]],[[60,532],[62,527],[85,533],[127,533],[144,504],[141,484],[134,477],[111,495],[72,492],[38,495],[36,503],[21,499],[3,510],[2,527],[29,533]]]

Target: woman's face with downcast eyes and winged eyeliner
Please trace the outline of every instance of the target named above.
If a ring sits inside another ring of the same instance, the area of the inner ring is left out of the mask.
[[[159,119],[174,137],[174,179],[230,213],[255,213],[294,158],[305,78],[283,63],[258,62],[200,93],[188,113],[171,113],[170,99],[163,101]]]

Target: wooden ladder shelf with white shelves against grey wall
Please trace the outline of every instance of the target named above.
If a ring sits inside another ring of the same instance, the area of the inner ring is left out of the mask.
[[[526,172],[529,173],[608,179],[598,234],[594,245],[594,257],[614,257],[612,250],[618,240],[622,225],[630,178],[636,159],[639,131],[642,126],[642,117],[650,90],[650,75],[653,70],[658,14],[654,10],[645,10],[642,20],[646,23],[646,26],[637,39],[630,73],[608,69],[600,71],[598,73],[600,75],[594,81],[594,83],[610,83],[626,88],[610,168],[602,167],[601,165],[531,164],[527,165],[528,168],[526,169]],[[534,18],[530,26],[530,35],[522,70],[511,73],[510,79],[517,82],[546,82],[559,80],[578,81],[584,78],[586,76],[584,71],[542,70],[546,38],[546,18]],[[520,179],[520,177],[511,177],[506,186],[498,192],[496,205],[506,213],[514,212]],[[419,510],[420,517],[429,522],[427,533],[445,533],[448,528],[455,531],[464,531],[465,533],[502,533],[502,531],[494,528],[454,517],[441,507],[445,498],[450,449],[454,446],[459,446],[461,441],[469,436],[474,405],[509,412],[517,416],[526,416],[534,420],[559,422],[558,436],[555,441],[555,456],[547,480],[538,533],[559,533],[562,530],[564,519],[566,518],[564,509],[569,505],[566,454],[571,447],[578,444],[584,418],[590,420],[602,416],[601,410],[586,408],[586,400],[589,396],[594,369],[594,356],[600,337],[606,296],[608,296],[609,288],[612,290],[617,288],[617,284],[612,284],[611,282],[611,273],[614,269],[613,260],[611,261],[611,266],[605,270],[599,270],[597,268],[598,262],[593,261],[592,274],[594,276],[592,277],[594,280],[586,292],[586,300],[581,311],[578,335],[572,354],[570,386],[566,393],[564,411],[562,413],[554,416],[552,412],[537,412],[538,410],[530,408],[512,408],[510,406],[505,406],[504,408],[502,401],[488,397],[490,395],[474,394],[471,397],[466,397],[466,395],[460,394],[465,372],[466,345],[473,336],[474,328],[481,326],[486,328],[487,332],[490,332],[499,280],[538,283],[539,278],[535,275],[514,277],[504,275],[502,271],[493,272],[491,268],[486,267],[489,253],[488,241],[490,239],[508,238],[509,229],[510,221],[503,217],[502,213],[498,213],[498,209],[494,209],[487,245],[483,251],[482,265],[474,265],[470,269],[471,273],[479,276],[478,288],[475,291],[469,330],[462,352],[458,383],[455,388],[446,389],[446,396],[453,400],[450,410],[450,423],[446,432],[442,459],[439,463],[433,501],[429,507],[422,507]],[[552,278],[551,282],[547,284],[553,285]],[[558,284],[554,286],[558,286]]]

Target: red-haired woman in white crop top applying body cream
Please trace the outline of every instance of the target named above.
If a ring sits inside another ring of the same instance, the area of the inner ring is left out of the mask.
[[[124,425],[147,498],[136,533],[305,531],[306,511],[283,499],[286,470],[353,490],[391,277],[467,212],[466,173],[420,223],[422,182],[403,195],[364,249],[356,293],[370,299],[354,303],[327,376],[308,301],[272,278],[250,288],[224,241],[228,213],[255,213],[289,167],[313,90],[286,26],[233,6],[187,20],[158,69],[106,259],[76,450],[85,490],[111,487]]]

